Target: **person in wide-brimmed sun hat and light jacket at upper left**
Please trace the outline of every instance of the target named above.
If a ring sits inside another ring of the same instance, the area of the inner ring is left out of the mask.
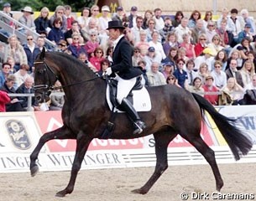
[[[35,24],[34,24],[34,17],[33,17],[34,12],[32,8],[29,6],[26,6],[21,10],[21,12],[24,14],[18,19],[18,22],[28,27],[30,31],[35,31]],[[21,28],[20,31],[26,33],[24,28]]]

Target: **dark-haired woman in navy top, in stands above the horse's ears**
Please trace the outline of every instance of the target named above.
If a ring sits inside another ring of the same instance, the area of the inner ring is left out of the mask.
[[[51,42],[59,44],[61,39],[65,39],[63,31],[61,31],[62,21],[61,18],[55,18],[53,28],[51,28],[50,33],[47,36]]]

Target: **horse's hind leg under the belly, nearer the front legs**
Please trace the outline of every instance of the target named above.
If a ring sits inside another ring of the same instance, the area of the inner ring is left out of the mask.
[[[170,131],[154,133],[156,155],[156,166],[154,168],[154,173],[143,187],[133,190],[133,193],[148,193],[149,189],[159,179],[162,173],[165,172],[165,170],[168,168],[167,147],[176,136],[177,134],[172,134]]]

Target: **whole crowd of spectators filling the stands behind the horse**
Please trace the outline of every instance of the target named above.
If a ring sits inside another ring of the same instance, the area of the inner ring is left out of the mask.
[[[18,21],[29,31],[15,28],[26,33],[25,42],[0,28],[0,33],[8,37],[8,44],[0,45],[0,90],[33,93],[34,59],[43,47],[71,54],[102,74],[112,64],[113,44],[107,31],[111,20],[123,23],[125,37],[134,49],[133,65],[144,72],[145,86],[176,85],[204,95],[213,105],[243,104],[245,91],[256,90],[256,28],[247,9],[223,8],[217,21],[212,11],[198,10],[190,16],[182,11],[164,16],[160,8],[155,8],[141,15],[136,6],[127,13],[123,7],[110,13],[107,5],[93,5],[81,8],[77,18],[71,11],[71,6],[59,5],[50,16],[49,8],[44,7],[34,18],[32,8],[23,8]],[[13,18],[10,3],[4,3],[3,13]],[[12,21],[1,20],[13,26]],[[33,32],[39,33],[38,39]],[[55,44],[55,49],[47,47],[45,38]],[[223,97],[231,101],[223,101]],[[60,110],[63,100],[54,98],[55,105],[49,102],[49,109]],[[6,110],[25,110],[25,103],[24,97],[11,97]],[[34,110],[42,110],[36,101],[33,104]]]

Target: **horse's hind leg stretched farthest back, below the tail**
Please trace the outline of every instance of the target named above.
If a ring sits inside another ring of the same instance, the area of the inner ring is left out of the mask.
[[[182,136],[182,135],[180,135],[180,136]],[[206,158],[206,161],[211,166],[212,172],[214,174],[214,178],[216,181],[216,189],[217,189],[217,191],[220,191],[222,189],[224,183],[223,183],[219,168],[217,167],[215,153],[213,152],[213,150],[210,147],[208,147],[206,142],[204,142],[201,139],[201,136],[199,136],[199,135],[195,137],[195,136],[191,135],[191,133],[188,133],[188,135],[186,135],[184,138],[188,142],[190,142],[196,148],[196,150],[201,153],[201,155],[203,157]]]

